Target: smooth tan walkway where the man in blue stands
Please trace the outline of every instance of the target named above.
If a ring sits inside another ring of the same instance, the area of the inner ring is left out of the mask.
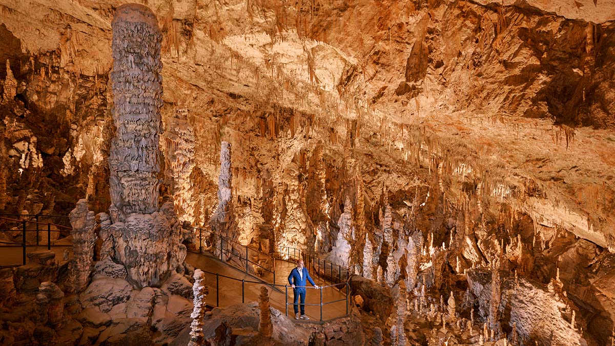
[[[242,272],[241,270],[232,267],[230,265],[223,264],[220,260],[213,259],[208,255],[197,254],[189,252],[186,256],[186,262],[195,268],[200,270],[207,270],[207,272],[218,273],[224,276],[230,276],[237,280],[246,281],[258,281],[254,276],[250,276]],[[292,268],[296,267],[295,264],[286,262],[284,260],[276,260],[276,284],[288,284],[288,274]],[[322,280],[315,277],[314,273],[310,273],[314,282],[319,285],[327,286]],[[229,278],[223,278],[218,276],[218,283],[220,289],[218,291],[218,306],[228,307],[229,305],[238,304],[242,302],[242,282],[232,280]],[[271,283],[272,275],[265,276],[264,280]],[[207,295],[207,304],[216,305],[216,275],[205,273],[205,283],[209,286],[209,294]],[[244,284],[244,300],[245,302],[256,301],[258,302],[258,296],[260,295],[260,288],[264,283],[246,283]],[[277,308],[281,312],[285,311],[285,288],[278,287],[279,290],[274,290],[271,286],[269,288],[269,301],[272,307]],[[346,299],[346,291],[339,291],[336,288],[328,287],[322,290],[308,288],[306,294],[306,304],[320,304],[320,293],[322,292],[322,301],[331,302],[339,299]],[[293,318],[293,289],[288,287],[287,291],[288,302],[288,316]],[[322,320],[330,320],[346,314],[346,300],[336,302],[333,304],[323,305],[322,307]],[[306,305],[306,315],[312,320],[320,320],[320,306],[308,306]]]

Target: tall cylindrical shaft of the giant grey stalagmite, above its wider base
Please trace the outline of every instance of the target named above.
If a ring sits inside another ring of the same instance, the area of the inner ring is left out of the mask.
[[[162,36],[156,16],[137,4],[118,7],[111,27],[111,202],[123,214],[150,214],[158,209]]]

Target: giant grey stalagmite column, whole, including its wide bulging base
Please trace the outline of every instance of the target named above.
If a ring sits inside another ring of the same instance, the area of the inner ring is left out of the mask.
[[[109,151],[113,257],[136,288],[159,286],[186,257],[172,202],[158,207],[161,33],[148,7],[117,7],[113,30],[113,121]]]

